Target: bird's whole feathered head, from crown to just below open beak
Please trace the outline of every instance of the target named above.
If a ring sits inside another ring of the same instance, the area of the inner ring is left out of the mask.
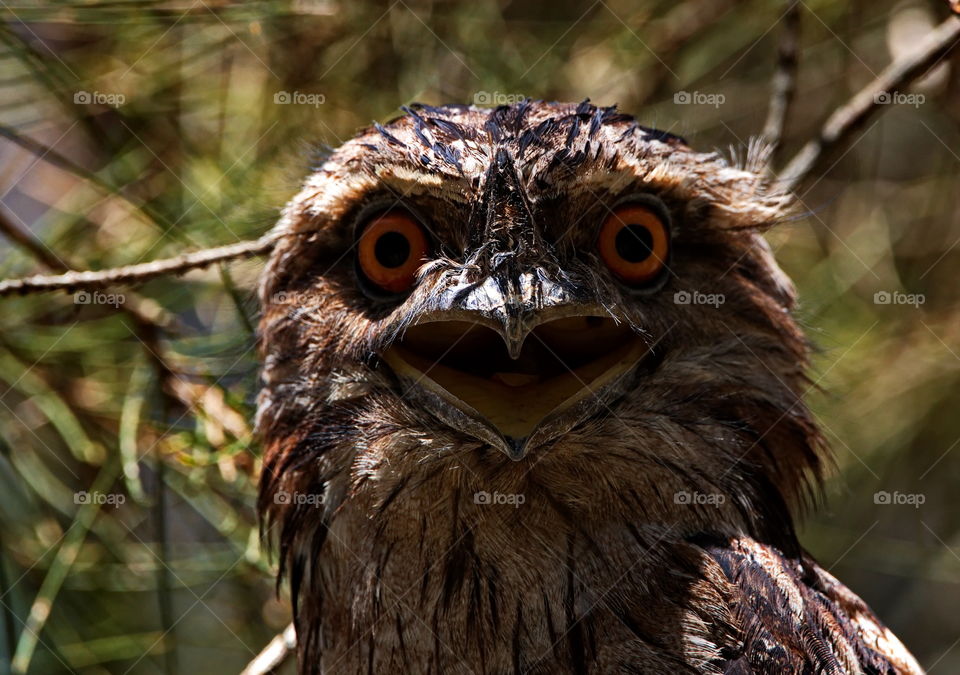
[[[751,171],[588,104],[366,130],[278,225],[268,451],[632,453],[792,493],[817,441],[792,286],[759,235],[782,209]]]

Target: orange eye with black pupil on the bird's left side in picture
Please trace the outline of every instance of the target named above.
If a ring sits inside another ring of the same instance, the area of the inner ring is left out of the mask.
[[[364,275],[385,291],[402,293],[423,264],[427,237],[413,217],[394,211],[371,220],[357,248]]]

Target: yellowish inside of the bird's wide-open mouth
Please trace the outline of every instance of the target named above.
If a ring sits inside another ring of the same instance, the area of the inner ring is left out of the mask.
[[[434,403],[454,406],[477,425],[475,435],[520,459],[535,437],[564,430],[560,418],[602,407],[601,394],[650,349],[625,324],[588,315],[540,323],[513,352],[493,328],[453,319],[412,326],[383,358],[405,396],[426,391]]]

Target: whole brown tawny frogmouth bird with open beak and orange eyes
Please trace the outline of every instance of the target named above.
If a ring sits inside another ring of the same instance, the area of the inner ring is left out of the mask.
[[[831,458],[765,153],[525,99],[309,173],[256,419],[300,673],[922,672],[798,541]]]

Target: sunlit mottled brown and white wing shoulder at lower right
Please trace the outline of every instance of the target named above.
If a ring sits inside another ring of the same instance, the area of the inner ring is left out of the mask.
[[[867,604],[809,555],[747,537],[690,543],[722,589],[721,606],[708,610],[725,625],[719,672],[923,672]]]

